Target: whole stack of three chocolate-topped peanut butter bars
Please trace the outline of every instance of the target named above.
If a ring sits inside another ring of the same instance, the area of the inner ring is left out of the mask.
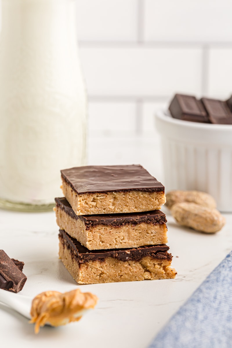
[[[61,171],[59,257],[80,284],[175,278],[164,186],[140,165]]]

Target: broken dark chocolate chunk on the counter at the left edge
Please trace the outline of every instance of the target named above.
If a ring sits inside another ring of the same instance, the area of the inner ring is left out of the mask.
[[[12,292],[21,291],[27,279],[25,274],[3,250],[0,250],[0,276],[0,288]]]

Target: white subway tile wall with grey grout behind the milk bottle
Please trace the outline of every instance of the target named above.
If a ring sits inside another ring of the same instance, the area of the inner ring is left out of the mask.
[[[175,92],[232,93],[231,0],[76,1],[90,136],[155,141],[153,115]]]

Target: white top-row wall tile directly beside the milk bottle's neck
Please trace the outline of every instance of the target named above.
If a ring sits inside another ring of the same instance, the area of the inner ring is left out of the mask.
[[[77,27],[83,41],[135,41],[136,0],[77,0]]]

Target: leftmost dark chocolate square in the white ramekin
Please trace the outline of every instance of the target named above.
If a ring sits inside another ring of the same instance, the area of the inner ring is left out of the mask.
[[[176,94],[170,103],[169,111],[172,117],[179,120],[209,122],[202,102],[191,95]]]

